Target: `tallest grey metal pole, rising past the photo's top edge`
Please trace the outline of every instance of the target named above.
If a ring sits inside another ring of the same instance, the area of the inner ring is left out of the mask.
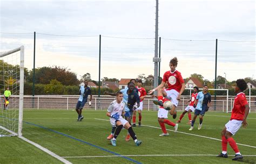
[[[156,30],[154,37],[154,58],[158,58],[158,0],[156,0]],[[158,86],[158,62],[154,61],[154,88]],[[157,92],[154,92],[157,95]]]

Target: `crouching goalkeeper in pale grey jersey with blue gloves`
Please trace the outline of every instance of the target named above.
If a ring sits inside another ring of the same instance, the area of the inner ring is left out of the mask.
[[[123,93],[118,91],[116,93],[116,100],[114,100],[107,109],[106,115],[110,117],[111,125],[117,127],[116,131],[114,131],[114,137],[111,139],[111,144],[113,146],[116,146],[116,139],[118,137],[118,134],[124,127],[130,133],[132,139],[135,142],[135,145],[139,146],[140,144],[142,144],[142,141],[137,139],[137,136],[134,133],[132,126],[129,124],[129,122],[127,122],[127,120],[122,117],[125,114],[125,103],[123,102],[123,96]]]

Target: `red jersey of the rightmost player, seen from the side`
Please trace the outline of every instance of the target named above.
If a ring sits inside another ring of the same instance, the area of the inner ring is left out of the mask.
[[[240,92],[235,96],[234,106],[231,113],[231,118],[236,120],[243,120],[245,115],[245,105],[248,104],[244,92]]]

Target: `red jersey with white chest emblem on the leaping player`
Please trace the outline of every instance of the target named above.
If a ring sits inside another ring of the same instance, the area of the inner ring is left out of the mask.
[[[163,82],[168,82],[168,88],[166,90],[174,89],[178,92],[180,92],[180,89],[182,87],[182,83],[184,83],[184,80],[181,76],[181,73],[178,72],[178,70],[174,70],[172,73],[170,70],[164,73]]]

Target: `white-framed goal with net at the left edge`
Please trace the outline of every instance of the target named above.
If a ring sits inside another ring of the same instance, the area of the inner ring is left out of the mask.
[[[24,47],[0,52],[0,137],[22,136]]]

